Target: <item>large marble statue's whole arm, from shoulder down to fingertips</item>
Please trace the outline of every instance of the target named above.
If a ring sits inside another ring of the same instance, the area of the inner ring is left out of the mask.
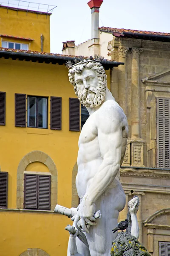
[[[100,156],[103,161],[82,198],[74,220],[76,227],[82,228],[87,233],[89,232],[88,227],[96,224],[96,219],[94,218],[96,200],[116,177],[120,168],[122,153],[122,126],[119,112],[111,108],[101,112],[96,119],[96,126]],[[86,226],[87,224],[88,226]]]

